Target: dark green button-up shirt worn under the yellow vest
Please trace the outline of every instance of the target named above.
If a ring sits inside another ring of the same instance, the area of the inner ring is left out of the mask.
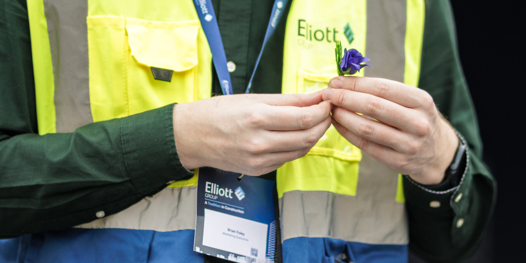
[[[482,144],[458,59],[449,2],[426,3],[419,87],[433,96],[441,113],[466,138],[469,168],[458,190],[463,193],[459,203],[451,201],[454,191],[432,193],[404,179],[409,246],[424,259],[450,262],[477,248],[496,186],[481,161]],[[248,84],[271,4],[214,2],[227,59],[236,64],[231,74],[235,93],[244,93]],[[238,12],[243,13],[239,20],[232,15]],[[281,19],[262,56],[254,93],[281,89],[284,32]],[[221,94],[217,77],[212,92]],[[70,134],[38,136],[25,0],[1,1],[0,238],[74,226],[95,219],[100,210],[114,214],[157,193],[168,181],[190,176],[177,156],[172,109],[168,105],[89,124]],[[441,206],[431,208],[433,200]],[[464,225],[457,228],[460,218]]]

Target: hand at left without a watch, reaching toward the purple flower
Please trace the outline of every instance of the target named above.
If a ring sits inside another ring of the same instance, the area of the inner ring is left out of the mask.
[[[181,164],[259,176],[305,156],[329,128],[331,104],[316,94],[238,94],[176,104]]]

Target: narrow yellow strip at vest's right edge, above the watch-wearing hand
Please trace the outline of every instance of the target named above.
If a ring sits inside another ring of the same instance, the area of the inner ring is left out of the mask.
[[[423,0],[407,0],[407,26],[404,41],[406,63],[403,70],[403,83],[413,87],[418,86],[420,77],[425,8],[426,4]]]

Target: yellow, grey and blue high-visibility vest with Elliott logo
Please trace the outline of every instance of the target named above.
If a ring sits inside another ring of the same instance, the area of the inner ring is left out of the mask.
[[[72,132],[210,97],[211,54],[192,1],[131,2],[28,0],[39,133]],[[373,60],[374,69],[358,76],[417,86],[423,0],[290,5],[282,93],[326,87],[336,75],[337,40]],[[151,67],[174,70],[171,82],[155,80]],[[77,228],[193,230],[196,184],[197,176],[177,181]],[[312,253],[355,262],[407,260],[401,176],[362,154],[333,127],[307,156],[278,169],[277,189],[285,262],[309,261]]]

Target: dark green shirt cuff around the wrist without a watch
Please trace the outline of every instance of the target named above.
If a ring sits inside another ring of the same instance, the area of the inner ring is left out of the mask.
[[[174,104],[124,117],[120,127],[128,175],[139,193],[193,174],[179,160],[174,138]]]

